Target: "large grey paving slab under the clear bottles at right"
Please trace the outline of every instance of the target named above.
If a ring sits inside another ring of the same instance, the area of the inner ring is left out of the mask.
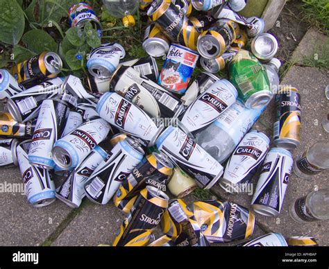
[[[329,83],[328,73],[321,73],[318,69],[310,67],[292,67],[287,73],[287,76],[282,81],[282,85],[292,85],[297,87],[301,92],[301,105],[302,105],[302,128],[301,139],[302,144],[294,150],[294,158],[301,155],[303,151],[312,146],[314,142],[319,140],[328,141],[328,133],[321,127],[321,120],[329,112],[328,101],[324,96],[324,88]],[[260,121],[266,124],[273,124],[275,117],[275,108],[273,103],[267,108],[262,115]],[[262,130],[271,135],[271,130],[264,127],[258,121],[255,128]],[[257,183],[257,176],[255,176],[253,183]],[[296,223],[289,216],[289,205],[296,199],[305,196],[313,189],[328,188],[329,173],[323,172],[315,175],[309,180],[304,180],[292,174],[289,177],[289,186],[283,202],[283,207],[278,218],[264,217],[256,214],[256,220],[262,228],[268,232],[280,232],[285,237],[289,236],[315,236],[320,245],[329,245],[329,222],[320,221],[316,223],[299,224]],[[254,185],[255,187],[255,185]],[[219,186],[212,188],[212,193],[217,196],[233,200],[240,205],[250,207],[252,196],[248,193],[229,194],[223,191]]]

